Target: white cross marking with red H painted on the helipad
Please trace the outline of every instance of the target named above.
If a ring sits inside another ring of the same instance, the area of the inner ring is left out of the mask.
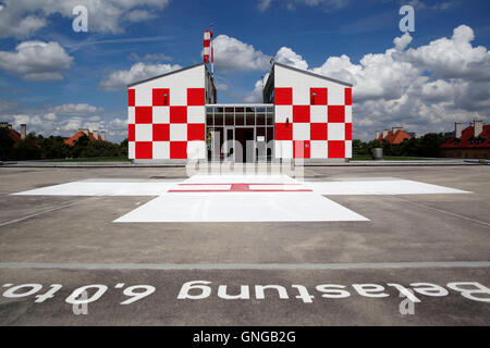
[[[177,182],[90,179],[13,195],[158,196],[118,223],[369,221],[323,197],[470,194],[393,178],[298,182],[286,175],[195,175]]]

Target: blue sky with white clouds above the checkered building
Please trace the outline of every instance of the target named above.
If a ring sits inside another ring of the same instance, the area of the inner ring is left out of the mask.
[[[76,4],[88,9],[88,33],[72,29]],[[415,9],[415,32],[394,49],[403,4]],[[124,84],[199,63],[211,22],[219,102],[257,101],[256,84],[274,57],[353,83],[354,137],[364,140],[397,125],[424,134],[489,117],[487,0],[0,0],[2,7],[0,120],[44,135],[88,126],[122,140]]]

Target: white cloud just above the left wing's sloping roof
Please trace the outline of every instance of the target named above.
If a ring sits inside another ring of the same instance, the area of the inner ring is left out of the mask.
[[[105,90],[122,90],[132,83],[170,73],[179,69],[182,69],[179,64],[145,64],[139,62],[133,64],[130,70],[112,72],[100,83],[99,87]]]

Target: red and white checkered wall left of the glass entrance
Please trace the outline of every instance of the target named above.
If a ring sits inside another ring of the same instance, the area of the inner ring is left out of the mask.
[[[205,158],[205,88],[130,88],[127,92],[130,159]]]

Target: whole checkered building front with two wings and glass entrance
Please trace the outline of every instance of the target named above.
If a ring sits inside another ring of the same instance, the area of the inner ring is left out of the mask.
[[[261,104],[219,104],[206,64],[128,86],[136,162],[352,158],[352,85],[274,63]]]

